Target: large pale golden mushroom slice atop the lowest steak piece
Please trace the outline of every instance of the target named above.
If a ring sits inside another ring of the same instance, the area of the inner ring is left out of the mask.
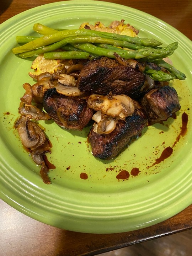
[[[87,100],[87,105],[116,119],[131,116],[135,110],[133,100],[124,94],[111,97],[92,94]]]

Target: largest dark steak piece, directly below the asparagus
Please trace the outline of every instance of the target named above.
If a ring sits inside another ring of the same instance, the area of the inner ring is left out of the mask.
[[[80,91],[91,94],[126,94],[129,97],[140,96],[145,75],[130,66],[124,66],[115,59],[101,57],[91,60],[80,71],[77,86]]]

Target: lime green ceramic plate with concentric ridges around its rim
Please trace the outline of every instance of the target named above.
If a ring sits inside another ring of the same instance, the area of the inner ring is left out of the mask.
[[[114,161],[92,156],[86,141],[89,128],[69,132],[55,123],[40,122],[53,144],[48,159],[56,166],[49,174],[52,184],[45,185],[39,166],[23,149],[13,128],[24,93],[22,84],[34,83],[28,76],[31,60],[20,59],[11,52],[16,46],[15,37],[34,34],[32,26],[36,22],[53,28],[78,28],[86,21],[108,25],[121,19],[138,28],[140,37],[153,37],[164,44],[178,41],[171,60],[187,79],[173,81],[172,85],[178,92],[181,111],[176,119],[144,129],[142,136]],[[82,0],[43,5],[16,15],[0,25],[0,37],[0,197],[5,202],[40,222],[87,233],[144,228],[172,217],[192,203],[192,43],[188,38],[144,12],[109,2]],[[179,136],[182,117],[187,116],[187,133]],[[173,148],[171,156],[153,165],[167,147]],[[133,168],[139,169],[138,175],[134,175]],[[122,170],[129,172],[128,179],[116,178]],[[88,178],[80,178],[81,173]]]

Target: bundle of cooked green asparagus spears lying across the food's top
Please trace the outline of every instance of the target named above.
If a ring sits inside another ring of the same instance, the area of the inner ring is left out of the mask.
[[[114,59],[115,52],[124,59],[153,62],[168,71],[156,71],[146,66],[144,73],[153,80],[170,81],[186,78],[185,74],[163,60],[174,53],[177,42],[160,47],[162,43],[153,38],[130,37],[87,29],[55,30],[39,23],[34,24],[33,30],[43,36],[17,36],[17,43],[22,45],[12,49],[14,54],[21,58],[43,54],[45,59],[91,60],[101,56]]]

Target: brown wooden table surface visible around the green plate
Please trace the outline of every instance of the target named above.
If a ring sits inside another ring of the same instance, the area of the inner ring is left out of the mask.
[[[1,0],[0,23],[33,7],[56,0]],[[192,39],[191,0],[111,0],[147,12]],[[192,228],[192,205],[149,228],[118,234],[82,234],[40,223],[0,200],[0,255],[96,255]]]

